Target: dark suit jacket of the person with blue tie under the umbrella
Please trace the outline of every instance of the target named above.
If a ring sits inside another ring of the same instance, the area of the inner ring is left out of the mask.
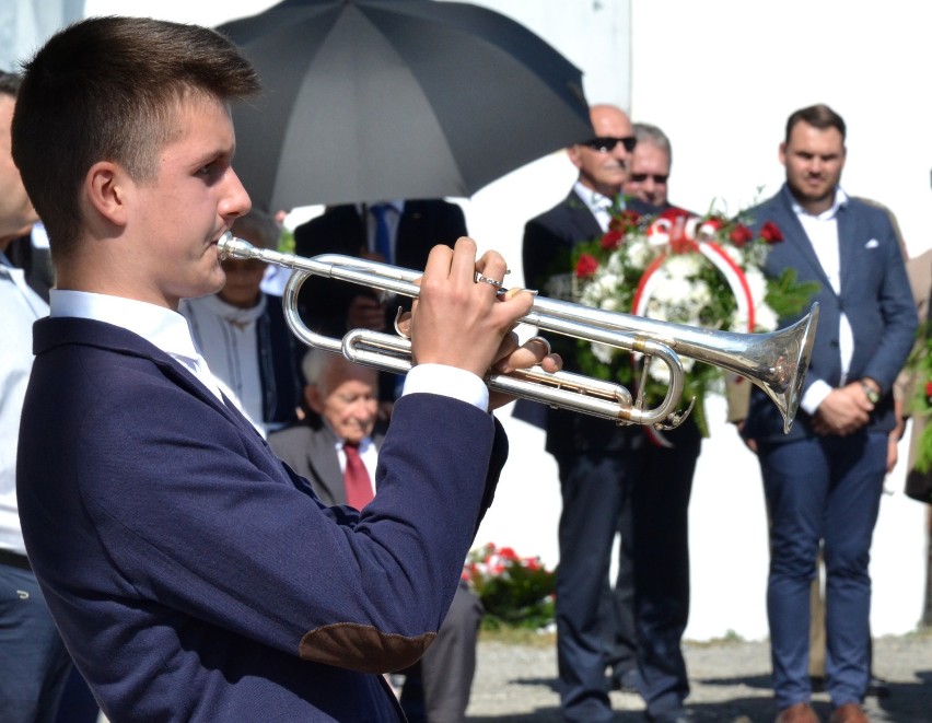
[[[463,209],[456,203],[441,199],[405,201],[398,221],[393,265],[422,270],[431,248],[438,244],[453,246],[459,236],[465,235],[466,220]],[[294,250],[299,256],[361,256],[365,248],[365,220],[356,205],[336,206],[294,230]],[[299,307],[302,318],[312,329],[341,337],[348,330],[350,301],[365,294],[372,295],[370,290],[360,285],[315,277],[301,287]],[[388,310],[388,314],[394,318],[395,310]]]

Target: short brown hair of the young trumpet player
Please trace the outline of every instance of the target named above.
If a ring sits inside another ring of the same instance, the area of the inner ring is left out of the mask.
[[[67,256],[83,225],[79,188],[98,161],[152,179],[182,102],[254,95],[252,65],[228,38],[149,18],[92,18],[54,35],[24,66],[13,160],[49,235]]]

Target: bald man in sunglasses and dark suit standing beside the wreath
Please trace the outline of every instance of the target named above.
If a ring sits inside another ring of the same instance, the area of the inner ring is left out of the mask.
[[[548,296],[571,296],[572,249],[580,242],[605,233],[613,210],[624,208],[644,214],[661,211],[639,198],[621,196],[631,151],[637,150],[628,116],[615,106],[595,105],[590,108],[590,117],[592,138],[567,151],[579,170],[573,188],[556,207],[528,221],[524,230],[525,283]],[[555,349],[560,347],[564,369],[580,371],[574,341],[552,341]],[[536,418],[534,411],[538,412]],[[617,427],[603,419],[522,400],[514,413],[545,428],[546,451],[554,455],[559,469],[562,512],[556,617],[563,720],[614,720],[609,690],[632,685],[646,702],[649,720],[687,720],[683,699],[688,681],[679,640],[688,602],[684,604],[678,592],[669,593],[672,588],[684,588],[685,580],[688,597],[688,562],[679,553],[679,536],[672,534],[659,543],[651,539],[641,545],[651,560],[664,560],[654,565],[652,573],[648,558],[643,558],[638,574],[631,556],[638,555],[639,538],[646,533],[643,524],[636,526],[637,517],[661,515],[664,527],[678,529],[679,516],[669,510],[686,506],[677,492],[660,500],[655,510],[643,510],[642,505],[652,504],[646,488],[674,489],[667,478],[691,479],[691,469],[688,474],[683,471],[677,462],[671,465],[675,469],[661,475],[662,479],[655,476],[656,454],[637,427]],[[695,424],[684,424],[681,430],[677,430],[675,439],[675,457],[691,465],[696,458],[694,448],[698,454],[699,434]],[[681,439],[683,434],[689,439]],[[651,485],[639,485],[641,479]],[[676,485],[675,489],[681,487]],[[685,525],[681,528],[685,530]],[[621,547],[613,590],[609,563],[618,534]],[[656,574],[657,570],[662,574]],[[636,586],[641,600],[639,610],[650,615],[634,614]],[[610,677],[606,676],[607,670]]]

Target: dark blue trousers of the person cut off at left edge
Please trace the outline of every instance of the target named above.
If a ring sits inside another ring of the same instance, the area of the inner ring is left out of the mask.
[[[36,576],[0,564],[0,720],[53,723],[71,665]]]

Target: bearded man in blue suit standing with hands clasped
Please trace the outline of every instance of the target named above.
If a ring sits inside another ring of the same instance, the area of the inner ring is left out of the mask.
[[[832,723],[860,723],[870,680],[871,537],[895,427],[893,384],[917,328],[897,236],[884,211],[839,186],[844,121],[815,105],[792,114],[780,161],[787,183],[750,211],[774,223],[766,271],[816,281],[819,324],[790,434],[754,390],[742,434],[758,455],[770,528],[767,608],[780,723],[816,723],[809,705],[809,584],[826,567],[826,690]],[[792,322],[795,319],[783,319]]]

